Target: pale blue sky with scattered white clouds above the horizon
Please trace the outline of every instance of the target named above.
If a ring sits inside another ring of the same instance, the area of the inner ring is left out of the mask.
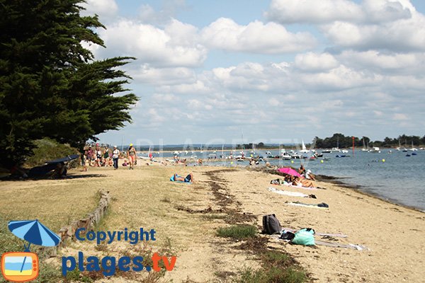
[[[425,1],[88,0],[140,101],[108,144],[425,134]]]

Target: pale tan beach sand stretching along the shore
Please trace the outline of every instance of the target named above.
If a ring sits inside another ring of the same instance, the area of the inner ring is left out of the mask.
[[[195,175],[193,185],[169,181],[173,173],[185,175],[190,172]],[[217,228],[247,223],[254,224],[260,231],[261,217],[274,213],[285,227],[311,227],[317,232],[348,236],[331,239],[316,236],[316,240],[360,244],[370,249],[295,246],[276,237],[262,236],[268,238],[269,247],[293,255],[314,282],[424,282],[425,214],[355,190],[330,183],[319,183],[327,190],[314,191],[270,185],[270,180],[278,178],[277,175],[212,166],[140,165],[132,171],[123,167],[118,171],[89,168],[89,172],[74,170],[70,175],[91,177],[0,183],[3,196],[0,214],[16,219],[21,214],[32,216],[49,224],[48,209],[54,216],[64,214],[61,221],[65,225],[66,215],[73,219],[80,214],[84,216],[96,206],[96,192],[108,190],[113,200],[111,212],[98,229],[155,229],[157,241],[145,244],[149,244],[152,250],[164,250],[167,246],[167,250],[177,256],[176,267],[166,273],[164,280],[229,282],[246,267],[259,268],[260,262],[251,251],[238,248],[241,243],[217,237]],[[307,195],[312,193],[317,200],[278,195],[267,190],[271,186]],[[57,190],[62,193],[53,194],[49,202],[30,206],[30,212],[25,207],[11,209],[24,197],[31,203],[31,197],[48,197]],[[20,197],[17,192],[25,194]],[[326,202],[329,209],[294,207],[285,204],[287,201]],[[62,202],[73,202],[74,205],[61,206]],[[60,226],[53,221],[52,225]],[[110,255],[122,255],[143,249],[142,243],[137,245],[138,248],[114,242],[105,249]],[[84,251],[85,255],[98,255],[101,249],[94,243],[76,242],[62,248],[60,255],[75,255],[78,250]],[[60,258],[57,258],[56,263],[59,262]],[[108,282],[138,282],[144,276],[115,276]]]

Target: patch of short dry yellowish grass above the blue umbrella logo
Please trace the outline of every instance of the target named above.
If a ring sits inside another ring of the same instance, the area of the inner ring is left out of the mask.
[[[38,219],[56,233],[98,204],[101,185],[89,180],[25,180],[0,183],[0,214],[11,220]]]

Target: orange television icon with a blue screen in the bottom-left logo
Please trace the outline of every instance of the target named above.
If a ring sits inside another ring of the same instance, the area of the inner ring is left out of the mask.
[[[12,282],[28,282],[38,277],[38,256],[35,253],[10,252],[1,255],[1,273]]]

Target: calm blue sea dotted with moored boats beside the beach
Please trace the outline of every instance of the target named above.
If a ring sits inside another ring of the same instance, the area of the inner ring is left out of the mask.
[[[249,155],[249,151],[246,151]],[[282,161],[280,159],[268,159],[272,165],[299,167],[301,163],[312,173],[319,175],[329,175],[341,178],[341,181],[349,185],[359,185],[358,190],[377,195],[384,200],[404,204],[409,207],[416,207],[425,211],[425,151],[390,151],[382,149],[380,153],[370,153],[356,150],[353,154],[349,151],[348,157],[337,158],[336,154],[324,154],[327,160],[321,161],[319,158],[314,161],[307,159],[293,159]],[[200,154],[195,151],[193,155],[203,158],[204,163],[210,151]],[[217,156],[221,151],[217,151]],[[228,152],[225,154],[229,154]],[[268,156],[266,151],[257,150],[256,154]],[[271,151],[271,155],[278,155],[278,151]],[[154,154],[154,156],[158,156]],[[164,153],[164,157],[171,157],[172,154]],[[181,158],[190,158],[191,151],[187,155],[181,154]],[[233,163],[231,163],[233,162]],[[246,166],[248,161],[220,161],[210,163],[215,166]],[[261,165],[261,163],[260,163]]]

